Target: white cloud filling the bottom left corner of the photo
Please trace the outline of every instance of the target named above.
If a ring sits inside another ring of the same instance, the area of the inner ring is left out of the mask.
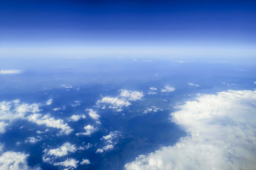
[[[29,167],[27,158],[29,154],[21,152],[4,152],[0,156],[0,169],[1,170],[41,170],[39,167]]]

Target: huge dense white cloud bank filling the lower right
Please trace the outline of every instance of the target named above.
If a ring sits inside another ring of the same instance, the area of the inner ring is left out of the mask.
[[[200,95],[172,113],[186,130],[174,146],[140,155],[126,170],[254,170],[256,91]]]

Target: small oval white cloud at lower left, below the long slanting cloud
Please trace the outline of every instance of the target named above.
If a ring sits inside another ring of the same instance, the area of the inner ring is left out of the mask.
[[[77,150],[76,145],[71,145],[69,142],[66,142],[60,148],[50,149],[47,152],[47,155],[54,155],[56,157],[63,157],[65,155],[67,155],[68,153],[76,152],[76,150]]]

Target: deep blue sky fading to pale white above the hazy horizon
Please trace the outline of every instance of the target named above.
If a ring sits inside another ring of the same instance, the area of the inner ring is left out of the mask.
[[[255,1],[1,0],[0,57],[254,57]]]

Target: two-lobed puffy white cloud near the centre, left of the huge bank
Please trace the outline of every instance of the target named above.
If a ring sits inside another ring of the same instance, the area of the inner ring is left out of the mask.
[[[124,106],[130,106],[129,101],[136,101],[142,99],[144,96],[143,92],[139,91],[128,91],[120,90],[121,93],[117,97],[103,97],[101,100],[97,101],[97,104],[110,104],[109,108],[121,111]],[[103,106],[104,107],[104,106]]]

